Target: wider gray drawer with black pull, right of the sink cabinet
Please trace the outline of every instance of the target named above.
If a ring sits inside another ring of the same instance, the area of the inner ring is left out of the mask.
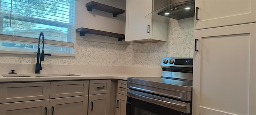
[[[90,80],[89,95],[110,93],[111,80]]]

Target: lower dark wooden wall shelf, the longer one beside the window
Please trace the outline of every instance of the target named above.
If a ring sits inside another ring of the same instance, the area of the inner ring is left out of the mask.
[[[80,32],[80,36],[85,36],[85,34],[96,34],[101,36],[108,36],[118,38],[118,41],[124,40],[124,34],[117,34],[112,32],[100,31],[100,30],[93,30],[89,28],[77,28],[76,32]]]

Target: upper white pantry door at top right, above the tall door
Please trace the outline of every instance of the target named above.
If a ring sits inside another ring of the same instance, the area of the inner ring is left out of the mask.
[[[196,0],[195,5],[195,30],[256,22],[256,0]]]

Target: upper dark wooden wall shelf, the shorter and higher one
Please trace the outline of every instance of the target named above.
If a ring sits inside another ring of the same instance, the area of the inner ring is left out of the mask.
[[[88,2],[85,6],[87,7],[88,11],[92,11],[92,9],[101,10],[104,12],[112,13],[114,17],[116,17],[119,14],[123,14],[125,12],[125,10],[108,6],[105,4],[101,4],[98,2],[94,2],[94,1]]]

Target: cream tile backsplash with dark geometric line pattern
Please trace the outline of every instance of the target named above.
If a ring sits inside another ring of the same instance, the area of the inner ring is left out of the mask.
[[[173,20],[167,42],[118,45],[76,40],[74,59],[45,59],[43,64],[160,68],[162,57],[193,57],[194,17]],[[35,63],[35,58],[0,57],[0,63]]]

